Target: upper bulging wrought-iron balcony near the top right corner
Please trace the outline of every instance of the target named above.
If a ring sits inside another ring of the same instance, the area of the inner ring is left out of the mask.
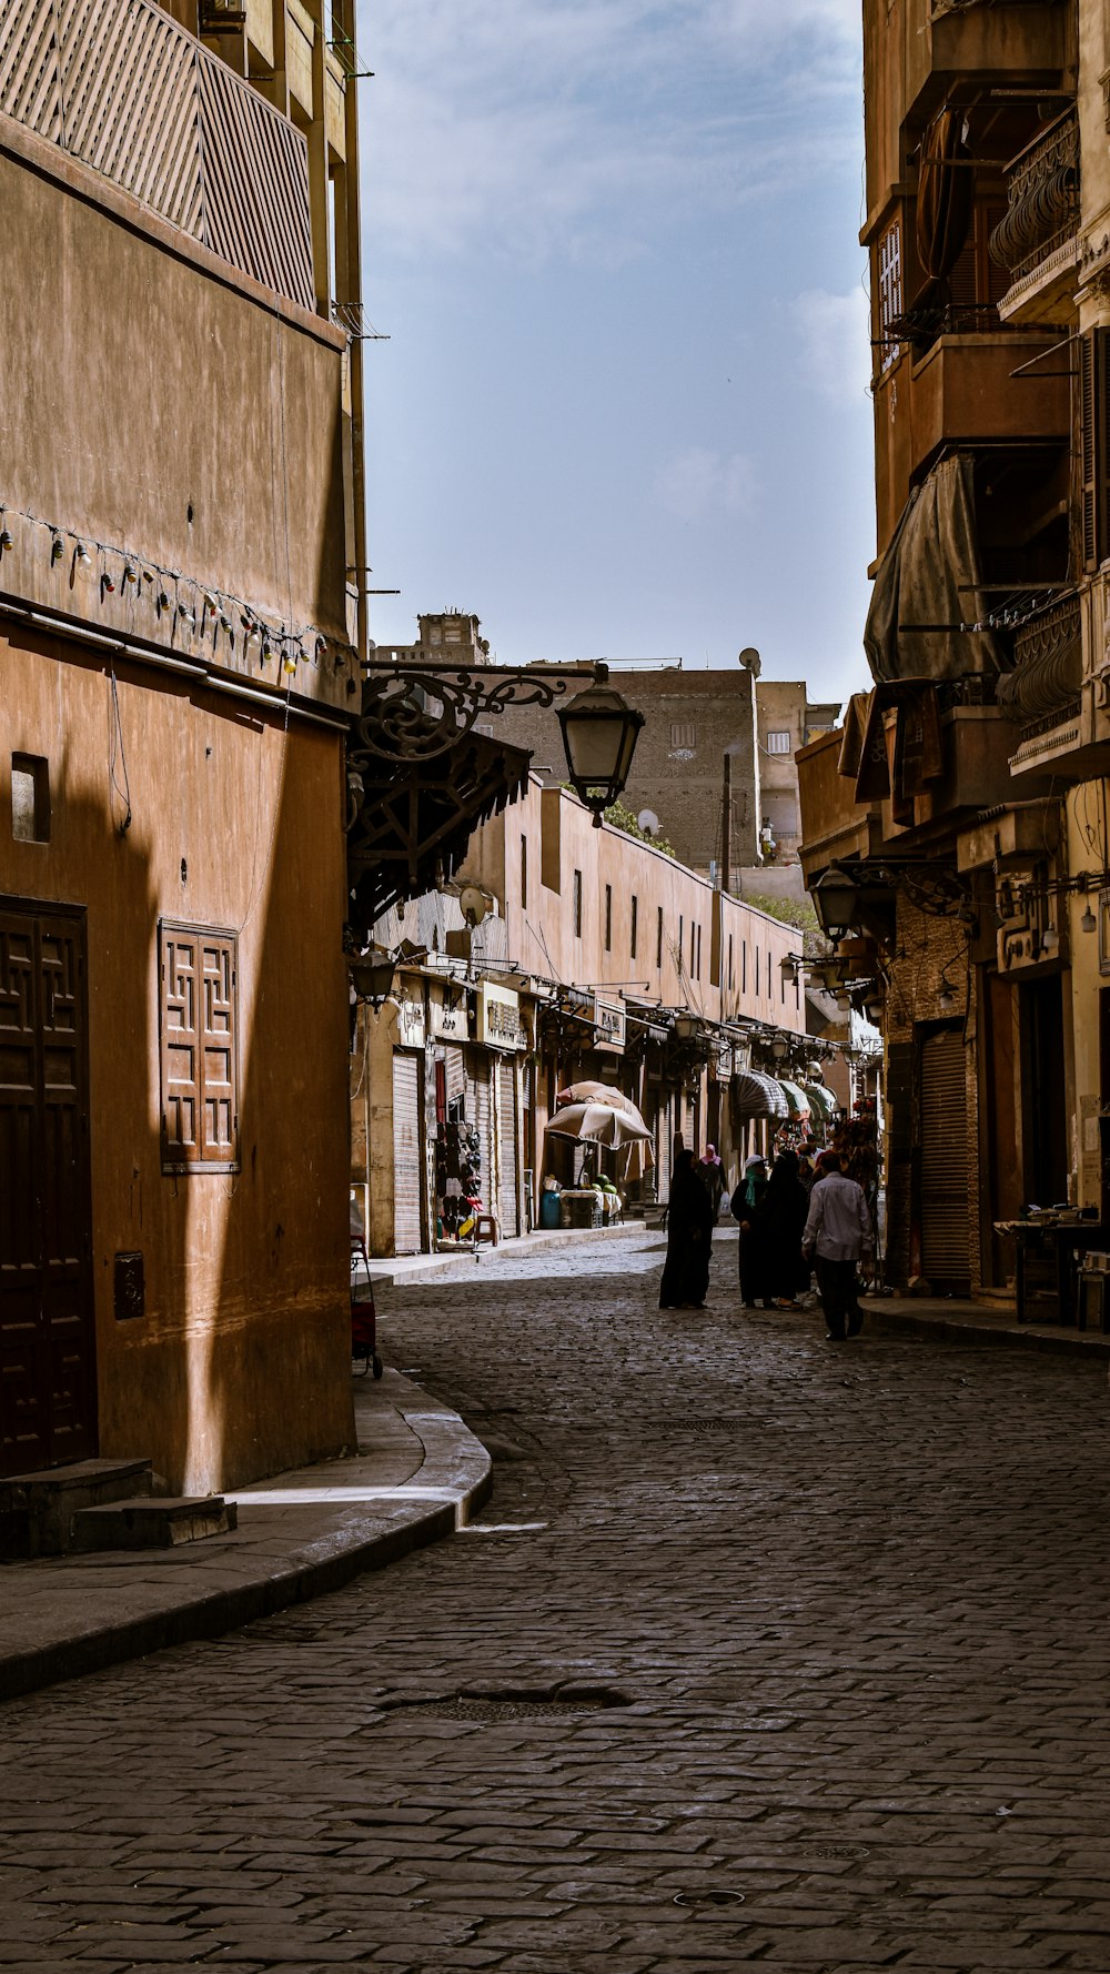
[[[1007,166],[1007,213],[991,233],[991,259],[1009,272],[1005,322],[1061,322],[1076,286],[1080,190],[1078,114],[1057,116]]]

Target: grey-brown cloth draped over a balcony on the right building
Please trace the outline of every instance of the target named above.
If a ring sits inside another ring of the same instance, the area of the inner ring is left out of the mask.
[[[879,563],[863,649],[875,681],[995,675],[993,632],[966,632],[982,582],[974,462],[956,452],[912,490]],[[914,630],[914,624],[932,626]]]

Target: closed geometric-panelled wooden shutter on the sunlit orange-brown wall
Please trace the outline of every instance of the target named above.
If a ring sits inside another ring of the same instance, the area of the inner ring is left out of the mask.
[[[235,936],[160,926],[162,1169],[239,1159]]]

